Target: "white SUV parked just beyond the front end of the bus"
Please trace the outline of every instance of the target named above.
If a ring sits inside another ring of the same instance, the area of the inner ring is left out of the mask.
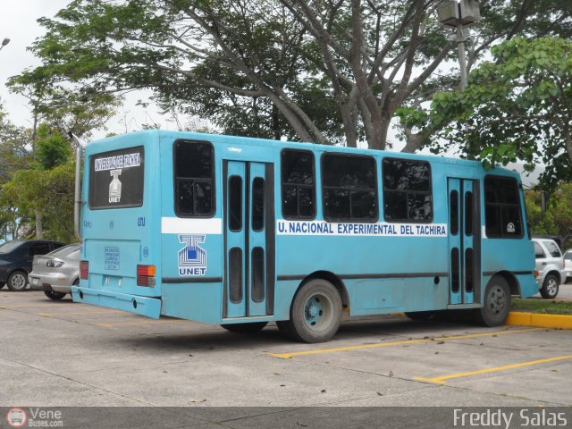
[[[559,285],[566,281],[564,258],[556,241],[533,239],[536,266],[534,274],[543,298],[556,298]]]

